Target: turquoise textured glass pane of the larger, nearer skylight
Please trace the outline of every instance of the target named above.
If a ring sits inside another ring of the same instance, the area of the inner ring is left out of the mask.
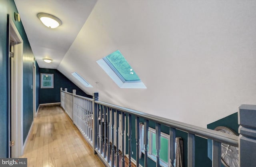
[[[134,72],[130,64],[126,61],[124,56],[119,50],[113,52],[112,54],[106,56],[108,61],[114,66],[116,71],[124,78],[126,81],[139,81],[140,78]]]

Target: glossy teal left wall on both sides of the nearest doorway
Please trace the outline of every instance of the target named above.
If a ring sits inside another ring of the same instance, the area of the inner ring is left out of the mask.
[[[33,121],[33,79],[34,55],[30,48],[22,22],[15,22],[14,12],[18,12],[13,0],[0,0],[0,157],[8,157],[8,54],[7,54],[7,14],[13,20],[23,40],[23,134],[24,140]],[[38,97],[37,97],[38,98]]]

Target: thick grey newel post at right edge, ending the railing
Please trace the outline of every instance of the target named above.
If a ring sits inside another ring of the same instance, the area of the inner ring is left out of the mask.
[[[256,167],[256,105],[243,104],[238,111],[240,167]]]

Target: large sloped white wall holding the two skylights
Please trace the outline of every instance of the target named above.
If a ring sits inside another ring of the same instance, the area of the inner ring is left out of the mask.
[[[101,101],[206,127],[256,103],[255,8],[247,0],[98,0],[58,70]],[[98,66],[116,50],[147,89],[121,89]]]

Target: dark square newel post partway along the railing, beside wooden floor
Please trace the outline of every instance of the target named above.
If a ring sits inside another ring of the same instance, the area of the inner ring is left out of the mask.
[[[95,149],[98,147],[97,143],[97,135],[98,135],[98,118],[97,118],[97,113],[98,113],[98,104],[95,103],[95,101],[99,100],[99,93],[98,92],[93,92],[93,97],[92,97],[92,116],[93,116],[93,129],[92,129],[92,147],[94,154],[96,154]]]

